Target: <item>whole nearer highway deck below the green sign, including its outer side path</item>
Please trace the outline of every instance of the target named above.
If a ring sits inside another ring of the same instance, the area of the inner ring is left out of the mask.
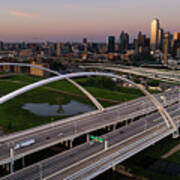
[[[180,117],[179,104],[168,107],[167,111],[173,118]],[[179,121],[177,125],[180,125]],[[147,117],[132,122],[128,126],[123,126],[102,136],[108,141],[108,150],[104,150],[104,143],[91,141],[22,169],[2,178],[2,180],[86,179],[85,177],[89,176],[90,172],[93,171],[94,173],[95,170],[102,167],[103,164],[97,164],[99,161],[105,163],[105,159],[109,157],[113,157],[115,161],[114,153],[121,152],[118,156],[116,155],[116,157],[120,158],[123,153],[131,150],[131,154],[127,156],[128,158],[133,155],[133,150],[136,152],[135,148],[138,147],[138,143],[142,145],[142,143],[147,143],[152,138],[157,138],[160,135],[160,139],[162,139],[168,135],[167,131],[173,132],[172,129],[167,129],[159,113],[154,112]],[[146,147],[144,145],[144,148]],[[112,159],[107,159],[107,162],[110,160],[112,161]]]

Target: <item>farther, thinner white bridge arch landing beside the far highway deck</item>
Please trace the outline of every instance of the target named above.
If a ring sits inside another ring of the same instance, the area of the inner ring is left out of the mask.
[[[19,66],[19,67],[33,67],[36,69],[41,69],[43,71],[49,72],[51,74],[54,74],[56,76],[60,76],[61,74],[57,71],[54,71],[52,69],[49,68],[45,68],[45,67],[41,67],[38,65],[34,65],[34,64],[26,64],[26,63],[0,63],[0,66]],[[68,82],[70,82],[71,84],[73,84],[75,87],[77,87],[81,92],[83,92],[90,100],[91,102],[96,106],[96,108],[100,111],[103,111],[104,108],[103,106],[100,104],[100,102],[90,93],[88,92],[85,88],[83,88],[82,86],[80,86],[78,83],[76,83],[75,81],[73,81],[72,79],[69,78],[65,78]]]

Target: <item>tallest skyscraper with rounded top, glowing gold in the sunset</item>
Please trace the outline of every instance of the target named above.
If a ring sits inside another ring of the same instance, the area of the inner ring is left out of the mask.
[[[154,18],[151,23],[151,50],[156,50],[159,48],[159,29],[159,20]]]

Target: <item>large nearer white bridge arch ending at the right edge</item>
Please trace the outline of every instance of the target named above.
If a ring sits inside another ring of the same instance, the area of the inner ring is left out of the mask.
[[[138,88],[139,90],[141,90],[151,101],[152,103],[155,105],[155,107],[157,108],[157,110],[159,111],[160,115],[162,116],[164,122],[166,123],[166,126],[168,128],[173,128],[175,133],[177,133],[177,135],[179,134],[178,128],[176,126],[176,124],[174,123],[174,121],[172,120],[171,116],[168,114],[168,112],[166,111],[166,109],[161,105],[161,103],[153,96],[151,95],[145,88],[141,87],[140,85],[136,84],[135,82],[126,79],[124,77],[121,77],[119,75],[114,75],[114,74],[109,74],[109,73],[102,73],[102,72],[80,72],[80,73],[73,73],[73,74],[66,74],[66,75],[61,75],[58,77],[52,77],[52,78],[48,78],[45,80],[41,80],[39,82],[33,83],[31,85],[25,86],[23,88],[20,88],[14,92],[11,92],[3,97],[0,98],[0,104],[13,99],[14,97],[21,95],[25,92],[28,92],[32,89],[35,89],[37,87],[52,83],[52,82],[56,82],[59,80],[63,80],[63,79],[67,79],[67,78],[75,78],[75,77],[84,77],[84,76],[105,76],[105,77],[110,77],[110,78],[116,78],[116,79],[120,79],[122,81],[128,82],[132,85],[134,85],[136,88]]]

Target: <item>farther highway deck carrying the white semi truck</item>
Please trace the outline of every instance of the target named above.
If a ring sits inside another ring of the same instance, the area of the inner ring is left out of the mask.
[[[160,97],[162,95],[166,97],[166,102],[161,100]],[[166,106],[178,102],[178,95],[177,88],[173,88],[172,91],[161,93],[156,95],[156,97]],[[103,112],[94,111],[48,124],[40,128],[38,127],[20,133],[15,133],[13,135],[1,137],[0,164],[10,162],[9,149],[10,147],[15,147],[16,144],[20,142],[24,142],[29,139],[36,140],[36,143],[32,146],[15,150],[15,159],[22,158],[28,154],[51,147],[66,140],[73,140],[74,138],[83,134],[88,134],[92,131],[110,125],[116,125],[118,122],[123,122],[130,119],[132,120],[155,110],[155,106],[153,106],[153,104],[146,97],[142,97],[137,100],[107,108]]]

